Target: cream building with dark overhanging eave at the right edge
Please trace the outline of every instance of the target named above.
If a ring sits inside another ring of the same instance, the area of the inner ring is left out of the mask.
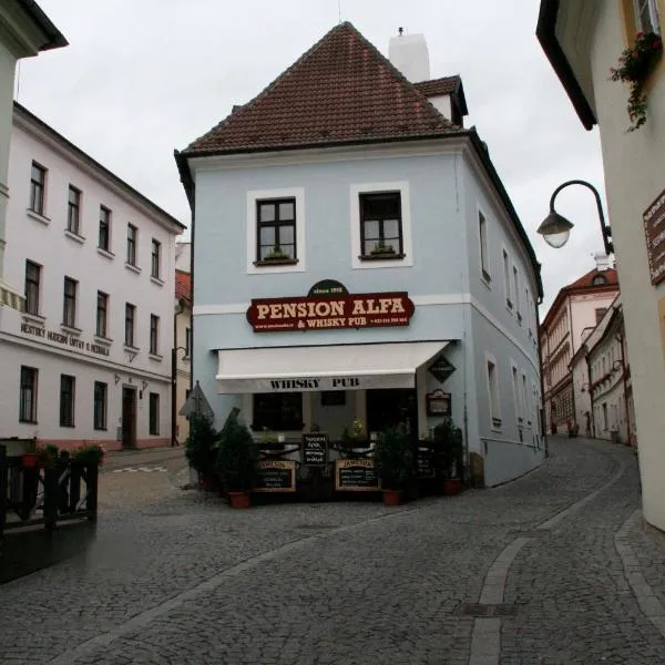
[[[664,0],[541,0],[536,33],[583,126],[598,125],[631,357],[645,519],[665,530],[665,63],[644,68],[646,119],[627,132],[628,85],[612,81],[642,33],[663,34]]]

